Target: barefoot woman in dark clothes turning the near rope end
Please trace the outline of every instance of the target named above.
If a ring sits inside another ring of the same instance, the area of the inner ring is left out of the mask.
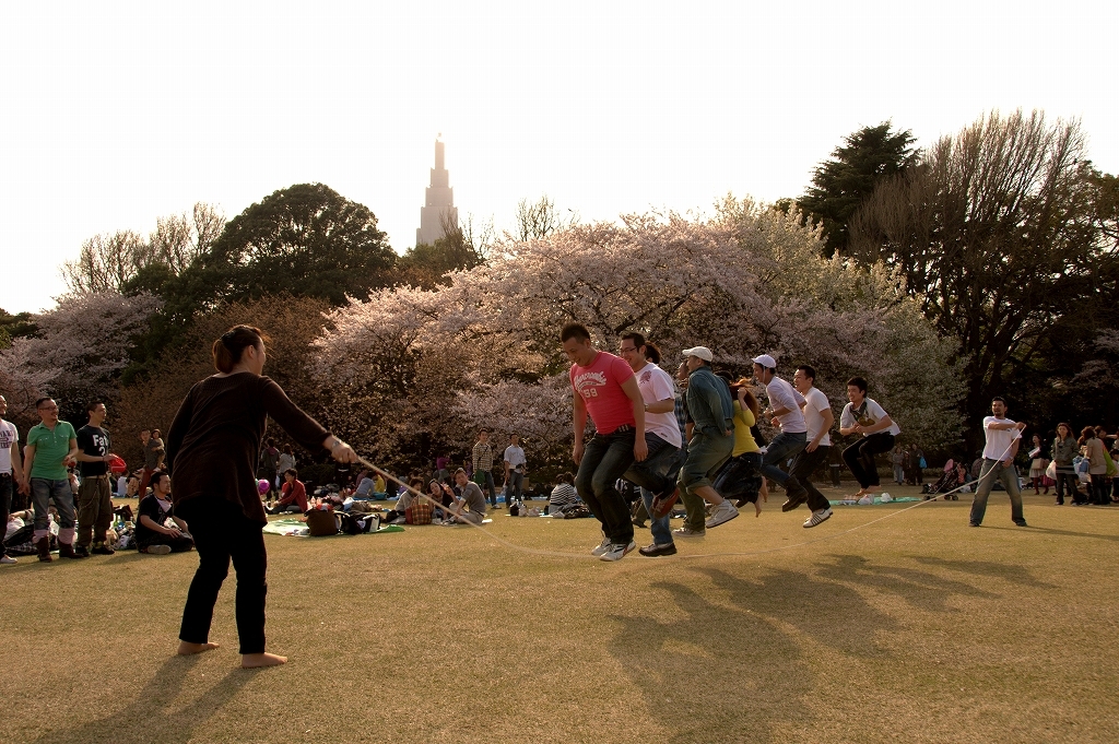
[[[179,631],[179,653],[217,648],[208,642],[214,604],[229,571],[237,572],[237,634],[241,666],[269,667],[286,658],[264,652],[264,573],[267,556],[261,528],[267,522],[256,490],[255,465],[271,416],[312,452],[330,451],[355,462],[348,444],[331,435],[262,377],[264,338],[234,326],[214,342],[218,374],[195,384],[179,406],[167,439],[175,514],[187,520],[198,552]]]

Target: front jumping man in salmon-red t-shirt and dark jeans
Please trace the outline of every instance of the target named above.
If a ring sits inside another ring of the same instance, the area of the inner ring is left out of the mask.
[[[560,341],[572,361],[571,386],[575,390],[575,490],[602,522],[604,535],[591,553],[603,561],[620,561],[637,543],[629,508],[614,482],[634,460],[640,462],[649,453],[645,443],[645,398],[629,364],[596,350],[585,326],[564,326]],[[594,436],[584,446],[587,414],[594,422]]]

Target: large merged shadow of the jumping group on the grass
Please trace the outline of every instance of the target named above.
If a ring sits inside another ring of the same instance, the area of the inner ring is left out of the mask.
[[[668,593],[679,620],[611,618],[621,630],[608,648],[642,690],[669,742],[704,741],[712,732],[721,741],[775,742],[789,726],[819,723],[815,715],[833,701],[816,691],[818,665],[835,659],[825,660],[815,647],[887,659],[877,634],[906,630],[872,606],[862,587],[930,613],[957,612],[948,603],[952,595],[997,596],[965,581],[877,566],[854,555],[828,556],[811,573],[777,568],[745,578],[721,568],[695,571],[709,577],[725,601],[666,582],[652,588]],[[850,628],[859,630],[844,631]]]

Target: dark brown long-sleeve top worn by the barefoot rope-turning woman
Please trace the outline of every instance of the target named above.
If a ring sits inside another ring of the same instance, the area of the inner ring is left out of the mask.
[[[167,468],[175,505],[220,496],[264,524],[256,461],[267,416],[311,452],[330,433],[267,377],[239,373],[207,377],[190,388],[167,436]]]

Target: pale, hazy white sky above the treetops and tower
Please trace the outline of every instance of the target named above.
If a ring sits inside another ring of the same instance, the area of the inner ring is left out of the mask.
[[[756,6],[756,7],[755,7]],[[320,181],[415,239],[435,135],[460,218],[794,197],[887,119],[1079,117],[1119,172],[1112,3],[18,3],[4,11],[0,308],[98,233]]]

